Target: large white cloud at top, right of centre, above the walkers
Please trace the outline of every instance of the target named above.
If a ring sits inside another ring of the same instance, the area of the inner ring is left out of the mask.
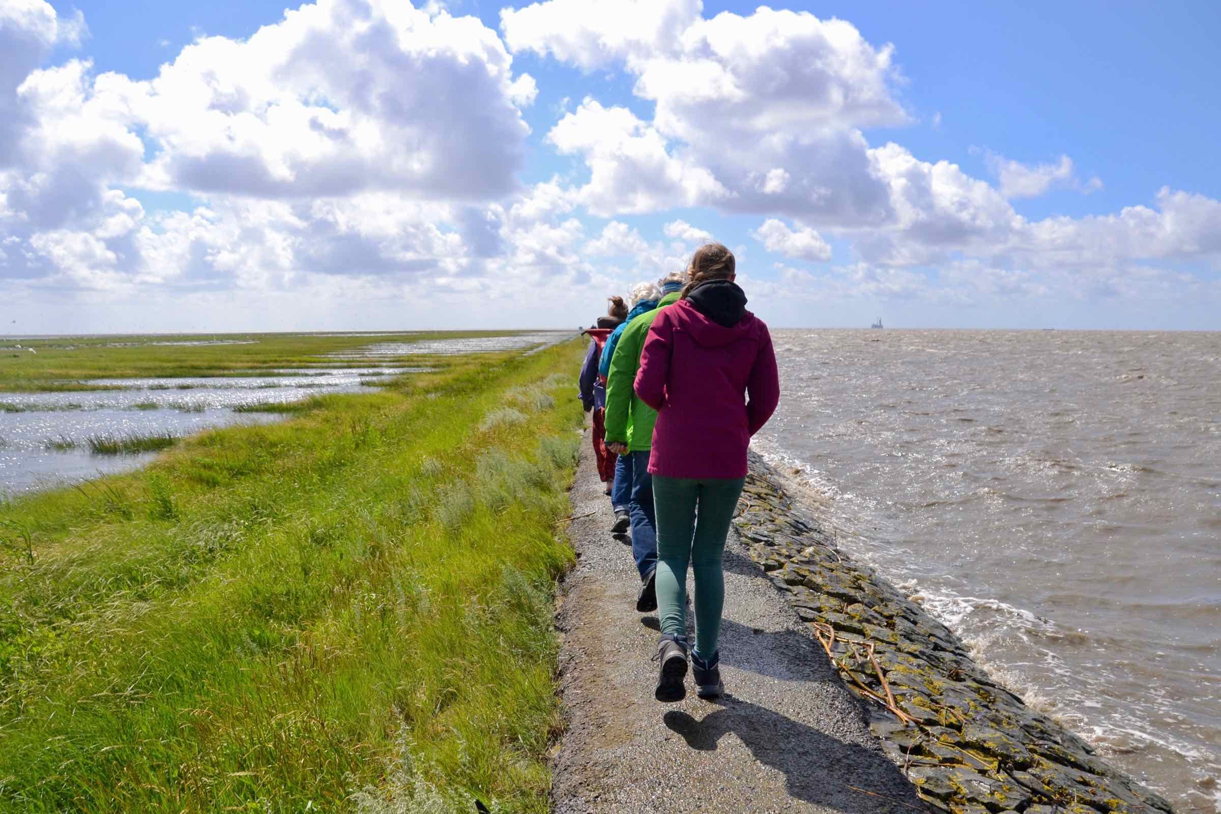
[[[897,77],[890,46],[807,12],[759,7],[705,20],[700,10],[686,0],[548,0],[502,13],[512,50],[623,66],[636,77],[635,95],[654,103],[652,122],[606,109],[621,111],[624,121],[612,122],[586,99],[574,115],[589,132],[580,149],[552,132],[596,177],[584,190],[591,211],[713,204],[827,225],[886,220],[886,188],[857,128],[907,121],[889,90]]]

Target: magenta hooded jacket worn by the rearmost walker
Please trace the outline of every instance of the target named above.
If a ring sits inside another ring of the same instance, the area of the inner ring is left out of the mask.
[[[741,289],[728,286],[745,305]],[[683,299],[661,311],[650,328],[635,389],[657,410],[651,474],[746,477],[746,448],[775,411],[780,382],[767,325],[737,309],[728,319],[716,315],[718,323]],[[737,314],[736,323],[724,325]]]

